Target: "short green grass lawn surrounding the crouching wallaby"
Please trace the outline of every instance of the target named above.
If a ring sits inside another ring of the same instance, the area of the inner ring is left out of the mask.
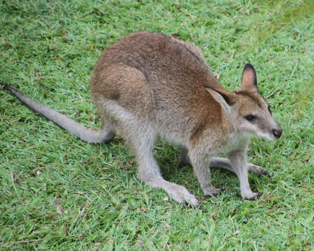
[[[103,50],[133,31],[195,43],[234,90],[245,63],[283,128],[254,139],[257,201],[234,174],[214,170],[222,195],[205,199],[180,147],[155,155],[169,181],[202,208],[184,208],[136,179],[126,143],[81,142],[0,89],[0,250],[313,249],[313,1],[0,1],[0,80],[90,128],[88,91]]]

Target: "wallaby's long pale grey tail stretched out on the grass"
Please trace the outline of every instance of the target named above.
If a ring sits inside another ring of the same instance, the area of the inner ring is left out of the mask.
[[[19,100],[24,102],[35,112],[42,114],[47,119],[56,123],[57,126],[60,126],[61,128],[72,133],[73,135],[76,135],[77,137],[84,140],[85,142],[102,143],[109,140],[109,137],[113,137],[112,133],[111,135],[109,135],[110,133],[104,132],[104,130],[101,130],[100,132],[95,132],[91,129],[84,128],[84,126],[81,126],[79,123],[73,121],[72,119],[69,119],[67,116],[63,114],[56,112],[54,109],[46,107],[45,105],[42,105],[32,100],[31,98],[24,96],[22,93],[14,89],[12,86],[8,86],[7,84],[3,84],[3,83],[0,83],[0,84],[5,89],[7,89],[11,93],[13,93],[15,96],[17,96]]]

